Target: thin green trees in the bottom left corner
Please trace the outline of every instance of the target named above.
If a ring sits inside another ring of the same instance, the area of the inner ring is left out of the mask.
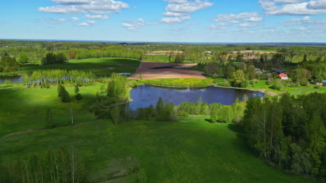
[[[84,162],[72,147],[49,149],[42,155],[30,155],[27,160],[6,162],[3,168],[10,168],[0,174],[0,180],[5,182],[86,182]]]

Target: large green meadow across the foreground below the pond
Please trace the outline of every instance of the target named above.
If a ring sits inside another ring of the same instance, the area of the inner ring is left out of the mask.
[[[206,117],[117,126],[103,120],[4,137],[0,157],[26,159],[30,153],[72,145],[84,157],[90,177],[105,174],[102,170],[114,159],[133,155],[148,182],[318,182],[267,166],[249,150],[244,136],[233,131],[233,124],[208,123]]]

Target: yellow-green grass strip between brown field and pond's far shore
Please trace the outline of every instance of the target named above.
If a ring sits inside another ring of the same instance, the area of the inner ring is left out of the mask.
[[[212,79],[151,79],[143,80],[147,85],[159,85],[166,87],[207,87],[212,84]]]

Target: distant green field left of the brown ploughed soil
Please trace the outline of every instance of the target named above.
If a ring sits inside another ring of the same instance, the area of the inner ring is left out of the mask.
[[[15,73],[0,73],[1,75],[32,73],[35,70],[66,69],[91,71],[97,76],[111,76],[115,73],[134,73],[139,67],[139,60],[124,58],[89,58],[84,60],[69,60],[66,64],[24,65]],[[108,69],[114,68],[114,69]]]

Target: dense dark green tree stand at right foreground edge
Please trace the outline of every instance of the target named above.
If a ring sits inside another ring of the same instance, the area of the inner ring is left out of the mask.
[[[274,166],[326,175],[326,94],[249,98],[243,127],[249,146]]]

